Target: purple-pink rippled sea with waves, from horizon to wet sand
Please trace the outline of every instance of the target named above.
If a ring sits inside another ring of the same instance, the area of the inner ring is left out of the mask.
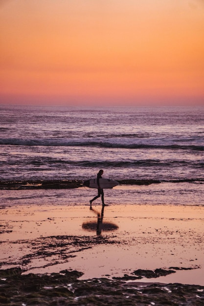
[[[107,190],[111,203],[204,204],[204,107],[0,105],[1,181],[86,180],[100,169],[127,180]],[[82,203],[94,194],[79,189]],[[77,191],[62,193],[72,203]]]

